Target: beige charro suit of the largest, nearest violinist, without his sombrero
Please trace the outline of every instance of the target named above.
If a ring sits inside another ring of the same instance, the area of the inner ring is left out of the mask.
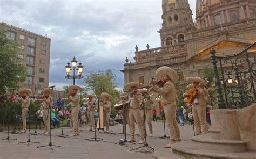
[[[164,84],[163,88],[159,88],[157,85],[154,85],[152,91],[161,95],[161,103],[164,107],[166,123],[170,134],[170,142],[181,141],[175,113],[177,107],[174,84],[171,81],[168,81]]]

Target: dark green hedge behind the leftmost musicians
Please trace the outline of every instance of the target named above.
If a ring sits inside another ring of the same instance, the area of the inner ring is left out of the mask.
[[[0,124],[8,124],[8,112],[10,112],[10,124],[17,122],[15,115],[21,116],[21,105],[22,103],[20,102],[0,102]],[[31,102],[29,114],[35,115],[39,106],[40,103]]]

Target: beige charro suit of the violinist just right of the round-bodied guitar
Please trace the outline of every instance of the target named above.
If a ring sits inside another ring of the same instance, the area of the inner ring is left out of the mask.
[[[131,140],[135,140],[134,132],[135,132],[135,121],[139,128],[140,139],[144,140],[145,132],[142,126],[142,117],[140,116],[140,104],[142,101],[142,94],[137,92],[130,100],[130,131],[131,131]]]

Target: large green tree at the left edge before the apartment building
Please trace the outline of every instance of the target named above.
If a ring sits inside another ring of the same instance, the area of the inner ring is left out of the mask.
[[[19,44],[6,39],[6,32],[0,25],[0,93],[4,94],[6,88],[18,88],[19,82],[26,78],[26,68],[18,57]]]

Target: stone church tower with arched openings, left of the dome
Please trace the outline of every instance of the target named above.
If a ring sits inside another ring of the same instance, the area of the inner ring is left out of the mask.
[[[194,28],[188,0],[162,0],[162,10],[161,46],[184,42],[186,33]]]

